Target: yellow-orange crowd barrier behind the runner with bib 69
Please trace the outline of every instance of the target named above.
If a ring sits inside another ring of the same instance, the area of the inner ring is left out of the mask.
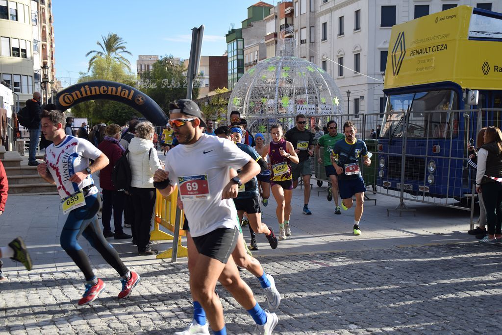
[[[157,200],[155,201],[155,220],[154,220],[154,230],[150,233],[150,240],[152,241],[172,241],[174,236],[163,232],[159,229],[162,226],[174,233],[175,223],[176,223],[176,200],[178,199],[178,190],[174,192],[167,198],[163,197],[157,190]],[[177,257],[188,257],[188,249],[181,245],[181,237],[185,236],[185,231],[181,229],[183,227],[183,221],[185,215],[183,211],[178,210],[179,216],[179,234],[178,234],[178,248],[176,252]],[[174,242],[173,242],[174,243]],[[173,248],[169,248],[166,251],[157,255],[157,258],[172,258]]]

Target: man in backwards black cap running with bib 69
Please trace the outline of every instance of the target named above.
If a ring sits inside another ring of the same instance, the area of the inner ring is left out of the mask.
[[[230,198],[237,197],[239,186],[260,172],[260,165],[230,141],[204,134],[205,120],[195,102],[180,99],[169,109],[169,123],[181,145],[168,151],[166,168],[155,173],[154,181],[164,197],[178,186],[190,222],[199,252],[190,274],[193,299],[207,313],[214,334],[226,334],[221,302],[214,292],[219,280],[253,317],[259,333],[271,334],[277,315],[260,307],[231,256],[239,232]],[[229,178],[230,168],[240,170],[237,177]]]

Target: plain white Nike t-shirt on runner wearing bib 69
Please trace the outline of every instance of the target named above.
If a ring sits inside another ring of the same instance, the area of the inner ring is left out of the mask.
[[[229,168],[240,169],[249,160],[232,141],[207,134],[168,151],[165,170],[171,184],[178,185],[192,236],[237,226],[233,200],[221,200],[221,194],[230,180]]]

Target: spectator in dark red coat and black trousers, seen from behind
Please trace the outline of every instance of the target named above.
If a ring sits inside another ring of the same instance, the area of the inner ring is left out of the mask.
[[[123,232],[122,229],[122,212],[124,210],[124,202],[126,195],[124,191],[118,191],[111,182],[111,172],[118,158],[122,156],[124,148],[118,142],[120,139],[120,126],[118,124],[110,124],[106,127],[106,136],[104,136],[97,148],[101,150],[110,163],[105,166],[99,173],[99,185],[103,190],[103,235],[104,237],[112,237],[115,240],[129,239],[132,236]],[[111,212],[113,210],[113,225],[114,233],[111,232],[110,221]]]

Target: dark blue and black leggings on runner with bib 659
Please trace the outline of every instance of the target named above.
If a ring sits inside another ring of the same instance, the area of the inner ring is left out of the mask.
[[[82,270],[87,281],[94,278],[94,272],[89,257],[78,244],[77,239],[80,235],[85,237],[89,244],[101,254],[106,263],[110,264],[120,276],[124,276],[129,272],[116,250],[105,240],[101,232],[99,220],[96,216],[99,207],[98,194],[86,197],[85,206],[74,209],[68,214],[61,231],[61,247]]]

